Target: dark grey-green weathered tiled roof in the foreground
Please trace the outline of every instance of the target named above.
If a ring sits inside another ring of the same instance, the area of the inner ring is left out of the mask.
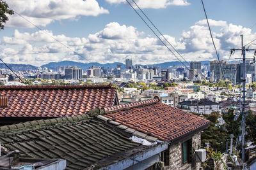
[[[1,145],[19,150],[21,157],[66,159],[67,169],[97,169],[145,148],[92,115],[5,125],[0,127]]]

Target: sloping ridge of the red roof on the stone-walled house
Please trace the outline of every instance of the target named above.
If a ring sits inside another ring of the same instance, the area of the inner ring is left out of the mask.
[[[159,103],[159,101],[160,101],[159,97],[156,96],[154,97],[154,99],[147,99],[145,101],[136,101],[132,103],[119,104],[116,106],[109,106],[109,107],[103,108],[103,110],[105,111],[105,113],[110,113],[113,111],[128,110],[131,108],[138,108],[145,105],[156,104],[156,103]]]

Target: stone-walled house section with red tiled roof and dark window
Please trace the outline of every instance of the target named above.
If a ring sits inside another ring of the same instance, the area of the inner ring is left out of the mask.
[[[209,121],[160,102],[158,97],[104,108],[99,118],[122,124],[122,129],[140,138],[151,136],[167,141],[164,169],[199,169],[195,151],[200,149],[201,131]]]

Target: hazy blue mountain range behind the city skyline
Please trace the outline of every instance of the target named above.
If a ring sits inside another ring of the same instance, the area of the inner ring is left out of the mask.
[[[183,62],[183,63],[186,66],[189,66],[189,62],[188,63]],[[202,65],[209,64],[210,61],[204,60],[204,61],[201,61],[201,63]],[[86,71],[89,67],[92,67],[92,66],[100,66],[100,67],[104,67],[104,69],[115,68],[116,64],[120,64],[122,68],[125,68],[125,64],[122,62],[100,64],[98,62],[83,63],[83,62],[74,62],[69,60],[64,60],[61,62],[49,62],[48,64],[44,64],[41,67],[47,67],[48,69],[52,69],[53,71],[56,71],[56,67],[58,66],[77,66],[79,68],[82,68],[84,71]],[[36,70],[38,68],[30,64],[8,64],[8,66],[15,71]],[[163,62],[159,64],[148,64],[147,66],[160,66],[163,69],[166,69],[169,66],[184,66],[184,65],[181,64],[179,61],[172,61],[172,62]],[[4,64],[0,64],[0,68],[8,69]]]

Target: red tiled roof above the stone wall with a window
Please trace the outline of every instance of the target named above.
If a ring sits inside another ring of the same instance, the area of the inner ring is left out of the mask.
[[[104,110],[104,117],[166,141],[209,125],[208,120],[160,103],[158,98],[121,104]]]

